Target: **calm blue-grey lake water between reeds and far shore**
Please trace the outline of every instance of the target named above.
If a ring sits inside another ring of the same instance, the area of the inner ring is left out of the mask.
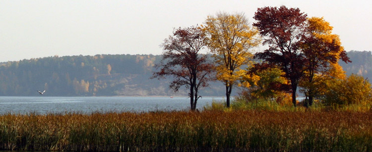
[[[222,101],[222,97],[203,97],[196,108],[210,105],[212,100]],[[187,110],[187,97],[0,97],[0,114],[37,114],[64,112],[148,112],[156,110]]]

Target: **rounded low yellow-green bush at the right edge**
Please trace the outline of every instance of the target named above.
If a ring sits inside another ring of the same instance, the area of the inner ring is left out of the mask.
[[[327,82],[322,94],[327,106],[368,105],[372,102],[372,88],[368,79],[352,74],[346,79],[332,79]]]

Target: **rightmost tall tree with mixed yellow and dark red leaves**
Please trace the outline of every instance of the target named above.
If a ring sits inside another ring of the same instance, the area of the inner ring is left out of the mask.
[[[306,31],[302,36],[300,47],[306,60],[304,62],[306,73],[301,86],[305,95],[309,97],[310,106],[313,97],[319,94],[324,85],[321,85],[319,76],[325,76],[332,64],[338,64],[341,59],[345,63],[351,62],[346,51],[341,46],[338,35],[332,34],[332,28],[323,18],[311,17],[307,20]],[[318,77],[318,78],[316,78]],[[308,106],[308,105],[307,105]]]

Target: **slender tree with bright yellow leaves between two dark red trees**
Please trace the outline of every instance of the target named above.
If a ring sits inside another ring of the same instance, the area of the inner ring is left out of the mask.
[[[208,47],[215,53],[217,79],[226,87],[226,106],[230,107],[232,87],[246,72],[241,66],[251,64],[251,48],[258,46],[258,31],[248,25],[243,14],[217,13],[208,16],[204,30]]]

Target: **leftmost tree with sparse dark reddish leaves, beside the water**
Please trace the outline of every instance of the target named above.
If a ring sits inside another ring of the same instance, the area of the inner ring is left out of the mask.
[[[208,86],[213,73],[213,64],[207,60],[207,54],[200,54],[206,46],[206,37],[198,27],[175,29],[173,36],[164,40],[163,59],[155,67],[152,78],[173,76],[170,88],[178,91],[183,85],[189,88],[191,110],[196,109],[200,87]]]

